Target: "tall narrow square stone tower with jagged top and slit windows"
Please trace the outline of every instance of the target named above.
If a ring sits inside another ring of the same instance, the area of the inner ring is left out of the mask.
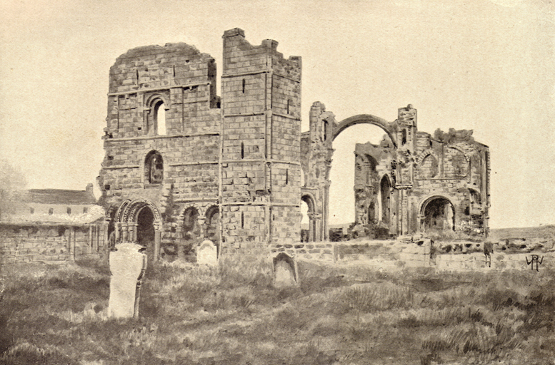
[[[230,249],[299,238],[301,59],[224,34],[221,213]],[[254,244],[254,245],[253,245]]]

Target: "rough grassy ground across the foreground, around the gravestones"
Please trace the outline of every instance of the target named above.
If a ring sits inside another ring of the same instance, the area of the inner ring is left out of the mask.
[[[393,274],[299,262],[155,264],[140,319],[106,318],[94,262],[4,267],[0,364],[554,364],[555,272]],[[9,276],[7,276],[9,274]]]

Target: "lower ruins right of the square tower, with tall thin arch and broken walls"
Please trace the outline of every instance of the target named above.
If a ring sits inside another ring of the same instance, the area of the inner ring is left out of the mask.
[[[391,123],[373,115],[336,122],[333,113],[314,103],[311,130],[301,140],[303,155],[308,156],[302,162],[306,176],[302,194],[315,200],[314,209],[309,204],[309,216],[311,209],[321,211],[326,222],[332,141],[342,130],[360,123],[379,126],[384,139],[379,145],[355,147],[355,222],[349,235],[487,234],[488,147],[474,141],[471,130],[437,130],[434,136],[419,132],[411,105],[399,108],[398,118]],[[311,229],[317,223],[311,219]]]

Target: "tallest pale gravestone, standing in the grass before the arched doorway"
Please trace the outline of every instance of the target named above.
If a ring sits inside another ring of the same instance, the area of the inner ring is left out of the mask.
[[[110,252],[110,299],[108,314],[114,318],[139,315],[139,290],[146,269],[146,255],[141,245],[120,243]]]

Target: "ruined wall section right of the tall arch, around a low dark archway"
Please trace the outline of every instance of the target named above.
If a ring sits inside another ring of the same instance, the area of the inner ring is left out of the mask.
[[[417,133],[414,187],[411,190],[413,225],[426,225],[426,204],[444,197],[452,204],[453,231],[486,235],[489,221],[489,148],[472,138],[471,130]],[[424,220],[424,222],[423,222]],[[420,227],[424,230],[426,227]]]

